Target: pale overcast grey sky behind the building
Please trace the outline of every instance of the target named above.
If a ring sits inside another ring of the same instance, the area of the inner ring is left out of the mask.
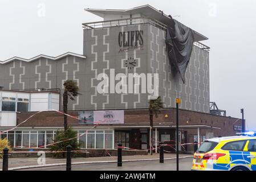
[[[82,23],[102,20],[84,8],[130,9],[151,5],[205,35],[210,50],[210,100],[227,116],[241,118],[256,130],[254,0],[0,0],[0,60],[39,54],[82,54]]]

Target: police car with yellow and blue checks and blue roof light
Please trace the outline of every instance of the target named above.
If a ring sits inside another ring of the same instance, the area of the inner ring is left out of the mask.
[[[194,153],[192,170],[256,171],[255,133],[204,140]]]

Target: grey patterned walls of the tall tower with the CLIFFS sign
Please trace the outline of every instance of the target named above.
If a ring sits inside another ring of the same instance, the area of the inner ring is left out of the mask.
[[[143,30],[144,46],[119,52],[119,32]],[[158,73],[159,95],[165,107],[175,107],[175,98],[180,97],[181,108],[209,113],[209,52],[196,46],[186,71],[186,82],[182,83],[178,75],[173,75],[166,54],[164,30],[151,24],[137,24],[84,30],[84,55],[91,63],[91,89],[96,90],[99,81],[96,75],[109,73]],[[130,57],[137,60],[132,70],[124,67],[124,60]],[[94,75],[95,74],[95,75]],[[94,89],[95,88],[95,89]],[[148,93],[138,94],[98,94],[91,95],[91,107],[94,109],[140,109],[148,107]]]

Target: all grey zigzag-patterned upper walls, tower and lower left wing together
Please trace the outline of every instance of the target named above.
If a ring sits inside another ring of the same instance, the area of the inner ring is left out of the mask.
[[[143,47],[121,51],[119,32],[143,31]],[[86,56],[68,54],[59,59],[39,56],[33,61],[14,59],[0,64],[0,86],[5,89],[60,88],[66,80],[78,82],[81,95],[69,101],[69,110],[145,109],[148,93],[97,92],[97,75],[111,69],[117,73],[158,73],[159,95],[165,107],[174,107],[181,98],[181,109],[209,113],[209,53],[193,47],[185,84],[171,71],[165,47],[165,31],[149,23],[84,30]],[[136,67],[128,69],[125,60],[133,58]],[[119,82],[115,81],[115,85]],[[111,86],[111,85],[110,85]],[[109,92],[111,90],[109,89]]]

